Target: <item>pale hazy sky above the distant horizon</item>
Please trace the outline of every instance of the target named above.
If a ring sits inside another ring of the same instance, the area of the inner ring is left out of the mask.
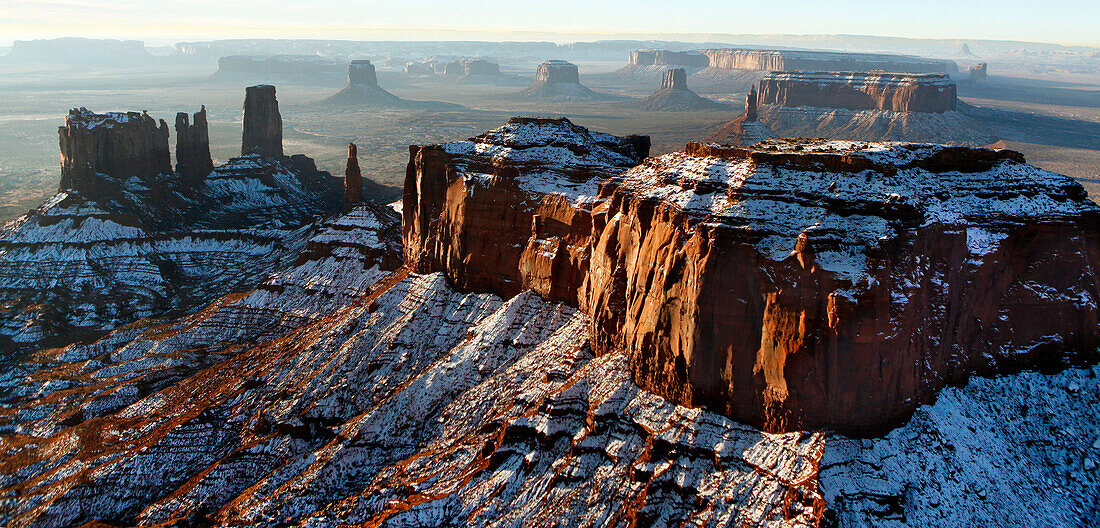
[[[1100,45],[1100,0],[0,0],[0,45],[56,36],[167,44],[232,37],[572,41],[669,33]]]

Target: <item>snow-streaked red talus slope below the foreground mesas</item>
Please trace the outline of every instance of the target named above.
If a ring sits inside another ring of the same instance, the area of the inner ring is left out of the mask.
[[[553,136],[562,150],[544,153],[580,150]],[[0,370],[0,522],[1094,518],[1100,367],[974,380],[878,439],[766,433],[639,388],[625,354],[594,353],[592,320],[574,307],[391,272],[398,232],[392,212],[364,202],[253,292]]]

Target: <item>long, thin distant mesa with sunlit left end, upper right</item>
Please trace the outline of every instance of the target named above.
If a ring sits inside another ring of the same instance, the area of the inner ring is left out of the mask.
[[[765,72],[914,72],[956,73],[954,61],[922,58],[910,55],[875,53],[811,52],[791,50],[701,50],[708,66],[722,69],[756,69]]]

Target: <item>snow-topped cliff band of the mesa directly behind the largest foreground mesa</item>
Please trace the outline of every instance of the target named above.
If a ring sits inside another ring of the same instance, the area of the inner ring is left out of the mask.
[[[761,105],[943,113],[956,88],[943,74],[772,72],[760,79]]]

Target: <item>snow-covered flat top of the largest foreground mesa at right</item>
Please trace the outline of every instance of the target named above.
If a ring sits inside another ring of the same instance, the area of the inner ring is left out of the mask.
[[[616,178],[618,188],[745,230],[772,260],[790,256],[800,238],[813,240],[818,264],[854,283],[868,278],[867,250],[903,229],[980,227],[987,243],[976,248],[988,253],[1014,226],[1100,215],[1078,183],[1008,151],[769,140],[693,152],[718,155],[649,158]],[[974,160],[988,167],[976,170]]]

